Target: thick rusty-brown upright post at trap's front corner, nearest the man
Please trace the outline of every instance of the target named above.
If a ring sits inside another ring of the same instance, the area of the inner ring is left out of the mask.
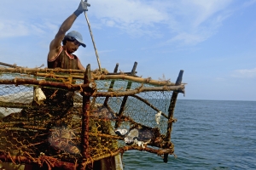
[[[87,65],[84,73],[84,84],[91,81],[90,65]],[[84,93],[84,92],[83,92]],[[90,92],[88,93],[90,94]],[[83,161],[80,164],[80,169],[84,169],[83,164],[86,165],[86,161],[90,159],[90,148],[89,148],[89,120],[90,119],[90,96],[83,96],[83,114],[82,114],[82,133],[81,133],[81,146]],[[87,165],[90,169],[90,165]]]

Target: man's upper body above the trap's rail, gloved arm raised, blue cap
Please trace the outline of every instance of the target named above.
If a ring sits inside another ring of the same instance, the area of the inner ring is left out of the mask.
[[[70,31],[67,35],[65,34],[71,28],[79,14],[88,10],[87,6],[90,7],[87,0],[81,2],[79,8],[62,23],[59,31],[55,35],[55,39],[50,42],[47,62],[48,68],[60,67],[61,69],[77,69],[85,71],[79,58],[73,54],[78,50],[80,45],[84,48],[86,47],[82,35],[78,31]],[[63,46],[61,46],[61,42]]]

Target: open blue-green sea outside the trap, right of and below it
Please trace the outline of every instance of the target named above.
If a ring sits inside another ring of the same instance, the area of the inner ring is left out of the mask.
[[[125,152],[131,169],[256,169],[256,101],[177,100],[172,127],[176,158]]]

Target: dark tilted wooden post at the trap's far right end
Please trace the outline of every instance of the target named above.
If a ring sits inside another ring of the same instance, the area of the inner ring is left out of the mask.
[[[178,77],[177,77],[177,81],[175,83],[175,85],[181,85],[181,82],[183,80],[183,70],[179,71]],[[175,109],[175,105],[176,105],[176,101],[177,101],[177,94],[179,92],[173,91],[172,93],[172,99],[170,101],[170,105],[169,105],[169,115],[168,115],[168,127],[167,127],[167,133],[166,133],[166,141],[169,142],[171,140],[171,133],[172,133],[172,122],[173,122],[173,114],[174,114],[174,109]],[[168,154],[164,154],[164,162],[168,161]]]

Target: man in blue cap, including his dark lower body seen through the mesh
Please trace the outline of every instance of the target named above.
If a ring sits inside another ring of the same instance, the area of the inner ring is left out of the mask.
[[[79,49],[79,46],[86,47],[83,42],[83,37],[78,31],[66,32],[71,28],[73,22],[77,19],[79,14],[87,11],[87,7],[90,4],[87,0],[79,3],[79,8],[71,14],[62,23],[59,31],[55,35],[55,38],[49,44],[49,53],[47,64],[48,68],[61,68],[61,69],[76,69],[84,70],[84,66],[81,64],[79,58],[73,53]],[[61,46],[62,42],[62,46]],[[58,81],[58,80],[50,80]],[[64,115],[73,107],[73,92],[69,92],[64,89],[55,88],[42,88],[46,99],[44,105],[53,105],[55,110],[51,109],[49,112],[53,116]]]

